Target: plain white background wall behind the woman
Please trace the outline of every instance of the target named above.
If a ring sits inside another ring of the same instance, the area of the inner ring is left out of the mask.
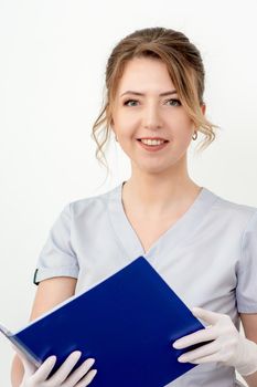
[[[2,324],[13,331],[26,324],[35,261],[63,207],[130,175],[117,143],[105,180],[90,133],[108,55],[136,29],[180,30],[200,49],[206,115],[222,129],[202,155],[190,149],[190,175],[228,200],[257,207],[256,13],[254,0],[0,1]],[[4,387],[12,356],[0,337]]]

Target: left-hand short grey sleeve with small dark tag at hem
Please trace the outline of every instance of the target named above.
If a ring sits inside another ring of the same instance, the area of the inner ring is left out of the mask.
[[[53,223],[40,252],[33,283],[53,276],[78,276],[78,262],[71,243],[71,205],[66,205]]]

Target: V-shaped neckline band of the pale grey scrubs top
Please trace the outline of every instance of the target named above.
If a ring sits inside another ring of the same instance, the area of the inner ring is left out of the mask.
[[[212,203],[218,198],[207,188],[202,187],[194,202],[190,208],[164,231],[158,240],[151,245],[150,250],[144,252],[143,247],[136,231],[133,230],[122,205],[122,187],[126,181],[122,181],[111,191],[109,191],[108,212],[111,226],[116,233],[119,244],[129,257],[136,259],[143,255],[151,260],[153,259],[161,244],[169,243],[170,249],[174,249],[180,242],[183,242],[188,236],[191,236],[199,220],[206,213]]]

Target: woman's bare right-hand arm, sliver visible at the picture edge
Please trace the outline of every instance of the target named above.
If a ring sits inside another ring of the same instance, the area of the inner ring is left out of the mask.
[[[245,336],[257,345],[257,313],[240,313],[240,320]],[[243,376],[249,387],[257,386],[257,372],[248,376]]]

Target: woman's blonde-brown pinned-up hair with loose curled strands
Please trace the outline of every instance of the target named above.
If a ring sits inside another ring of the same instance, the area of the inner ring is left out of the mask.
[[[200,150],[205,149],[215,139],[214,127],[218,126],[212,124],[201,109],[201,105],[204,104],[205,72],[200,51],[182,32],[161,27],[146,28],[136,30],[118,42],[108,59],[105,79],[106,101],[92,133],[97,144],[96,158],[100,163],[103,158],[106,161],[103,147],[110,137],[111,112],[125,65],[133,57],[142,56],[156,57],[167,64],[182,106],[197,130],[205,136]],[[108,169],[107,161],[106,166]]]

